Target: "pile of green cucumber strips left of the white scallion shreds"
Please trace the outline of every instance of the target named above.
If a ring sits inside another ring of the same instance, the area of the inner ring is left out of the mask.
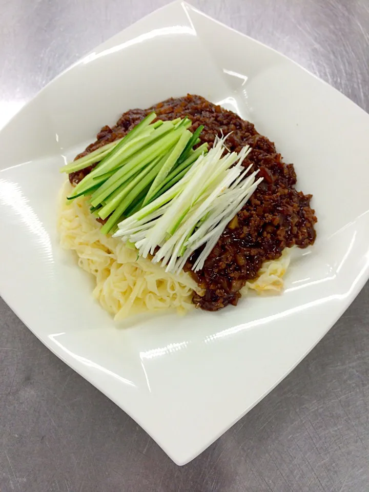
[[[189,118],[155,119],[155,113],[149,114],[125,137],[60,170],[71,173],[96,165],[75,186],[68,199],[87,196],[91,213],[107,219],[101,228],[105,234],[115,230],[124,217],[136,216],[143,210],[142,219],[158,208],[166,210],[169,202],[186,187],[192,167],[208,151],[207,144],[193,149],[199,143],[203,127],[191,133]],[[183,213],[186,215],[186,208],[178,216],[178,227]]]

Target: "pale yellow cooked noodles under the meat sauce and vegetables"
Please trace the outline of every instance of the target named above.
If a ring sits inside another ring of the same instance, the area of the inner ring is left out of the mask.
[[[60,244],[74,250],[79,267],[95,276],[93,296],[115,320],[168,309],[183,314],[194,307],[192,292],[195,290],[201,295],[201,290],[190,274],[166,273],[150,259],[137,257],[137,251],[126,247],[119,239],[101,234],[100,224],[91,214],[86,198],[67,203],[70,191],[71,185],[67,182],[60,196]],[[286,249],[278,260],[265,262],[260,276],[249,281],[243,292],[249,289],[281,291],[282,276],[289,262]]]

